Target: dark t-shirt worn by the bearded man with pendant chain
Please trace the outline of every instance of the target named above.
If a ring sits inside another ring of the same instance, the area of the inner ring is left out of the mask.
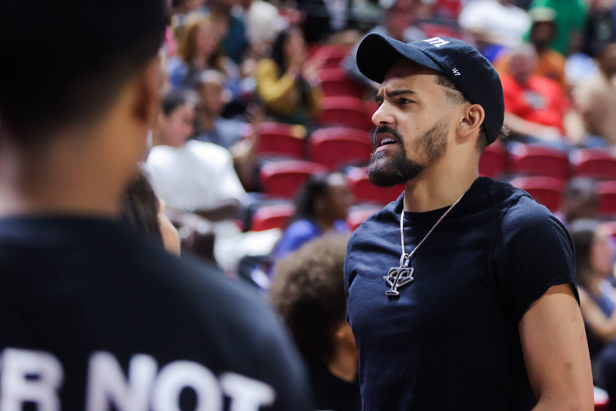
[[[347,248],[363,409],[532,409],[517,326],[549,287],[575,285],[569,233],[528,193],[480,177],[390,297],[383,276],[399,267],[402,203],[368,218]],[[446,210],[405,212],[407,253]]]

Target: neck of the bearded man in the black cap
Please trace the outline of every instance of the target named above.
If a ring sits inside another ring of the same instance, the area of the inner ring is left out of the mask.
[[[444,161],[441,161],[444,163]],[[434,167],[424,170],[407,182],[404,192],[404,211],[425,213],[452,205],[479,177],[476,165]]]

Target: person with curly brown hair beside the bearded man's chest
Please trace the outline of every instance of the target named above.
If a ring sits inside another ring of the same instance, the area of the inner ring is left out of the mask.
[[[357,411],[359,353],[346,321],[343,266],[348,235],[328,234],[278,261],[272,303],[306,360],[317,409]]]

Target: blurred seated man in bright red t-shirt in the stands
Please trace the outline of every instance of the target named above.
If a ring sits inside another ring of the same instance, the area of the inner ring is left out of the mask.
[[[537,52],[524,44],[511,52],[509,74],[501,77],[505,97],[505,125],[522,142],[553,142],[565,135],[569,102],[556,81],[533,74]]]

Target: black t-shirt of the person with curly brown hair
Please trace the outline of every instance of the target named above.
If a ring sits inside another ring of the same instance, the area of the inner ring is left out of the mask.
[[[310,362],[310,380],[317,409],[331,411],[359,411],[362,401],[359,397],[359,383],[341,380],[333,375],[325,363]]]

